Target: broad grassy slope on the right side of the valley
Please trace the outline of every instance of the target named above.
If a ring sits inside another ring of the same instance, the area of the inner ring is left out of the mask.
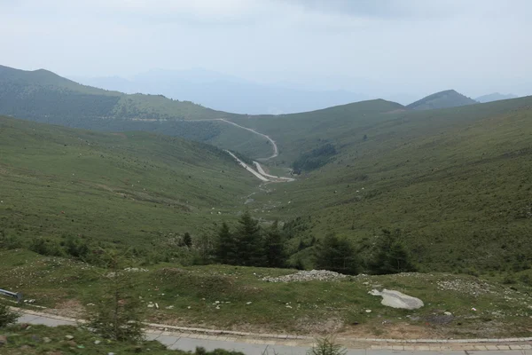
[[[277,199],[279,217],[310,214],[317,237],[402,228],[431,269],[529,266],[531,97],[374,118],[323,131],[334,161],[255,199]]]

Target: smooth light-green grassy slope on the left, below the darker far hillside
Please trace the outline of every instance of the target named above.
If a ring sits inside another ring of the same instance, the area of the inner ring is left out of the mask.
[[[232,214],[257,185],[213,146],[6,117],[0,118],[0,176],[5,233],[133,244],[210,230],[227,218],[211,216],[211,208]]]

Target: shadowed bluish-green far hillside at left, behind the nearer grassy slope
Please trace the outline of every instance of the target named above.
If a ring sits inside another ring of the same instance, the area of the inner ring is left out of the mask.
[[[267,156],[266,140],[219,121],[237,117],[160,95],[126,95],[74,83],[47,70],[0,66],[0,114],[89,130],[145,130]],[[230,138],[228,138],[230,137]]]

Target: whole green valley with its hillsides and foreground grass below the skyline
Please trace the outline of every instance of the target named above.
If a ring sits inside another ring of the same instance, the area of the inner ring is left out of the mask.
[[[532,327],[530,97],[238,115],[5,71],[20,76],[0,75],[0,112],[16,117],[0,117],[0,283],[36,306],[82,316],[106,253],[126,253],[132,295],[169,325],[390,338]],[[278,238],[283,267],[219,261],[223,225],[238,236],[246,213]],[[387,233],[409,272],[372,269]],[[263,280],[323,267],[332,234],[356,253],[353,275]],[[390,309],[372,288],[426,305]]]

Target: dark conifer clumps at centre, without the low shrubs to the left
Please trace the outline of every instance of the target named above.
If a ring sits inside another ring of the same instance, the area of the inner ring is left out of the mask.
[[[234,231],[223,223],[216,235],[214,260],[220,264],[286,267],[290,257],[286,250],[287,239],[277,222],[263,230],[259,222],[246,212]],[[311,248],[312,264],[317,269],[351,275],[361,271],[387,274],[416,270],[400,230],[383,230],[378,241],[363,257],[361,249],[365,247],[356,248],[348,239],[331,233],[303,248]],[[301,242],[300,248],[293,251],[301,251]]]

